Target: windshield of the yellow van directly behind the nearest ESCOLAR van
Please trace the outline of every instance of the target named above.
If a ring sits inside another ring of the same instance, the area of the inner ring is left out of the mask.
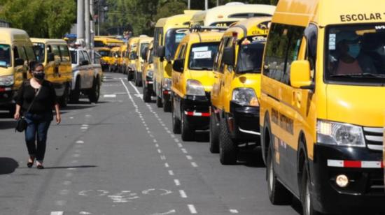
[[[241,41],[238,52],[237,73],[260,73],[265,38],[253,37]]]

